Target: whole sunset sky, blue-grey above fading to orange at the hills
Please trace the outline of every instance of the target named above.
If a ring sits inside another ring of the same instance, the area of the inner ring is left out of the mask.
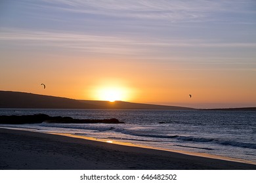
[[[1,0],[0,90],[256,107],[256,1]]]

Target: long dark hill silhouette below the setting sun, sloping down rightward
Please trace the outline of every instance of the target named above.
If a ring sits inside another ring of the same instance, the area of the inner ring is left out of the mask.
[[[124,101],[88,101],[24,92],[0,91],[0,108],[88,108],[88,109],[161,109],[193,110],[194,108],[150,105]]]

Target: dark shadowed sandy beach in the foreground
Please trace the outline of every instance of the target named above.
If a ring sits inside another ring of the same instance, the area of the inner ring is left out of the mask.
[[[256,165],[62,135],[0,128],[0,169],[255,170]]]

